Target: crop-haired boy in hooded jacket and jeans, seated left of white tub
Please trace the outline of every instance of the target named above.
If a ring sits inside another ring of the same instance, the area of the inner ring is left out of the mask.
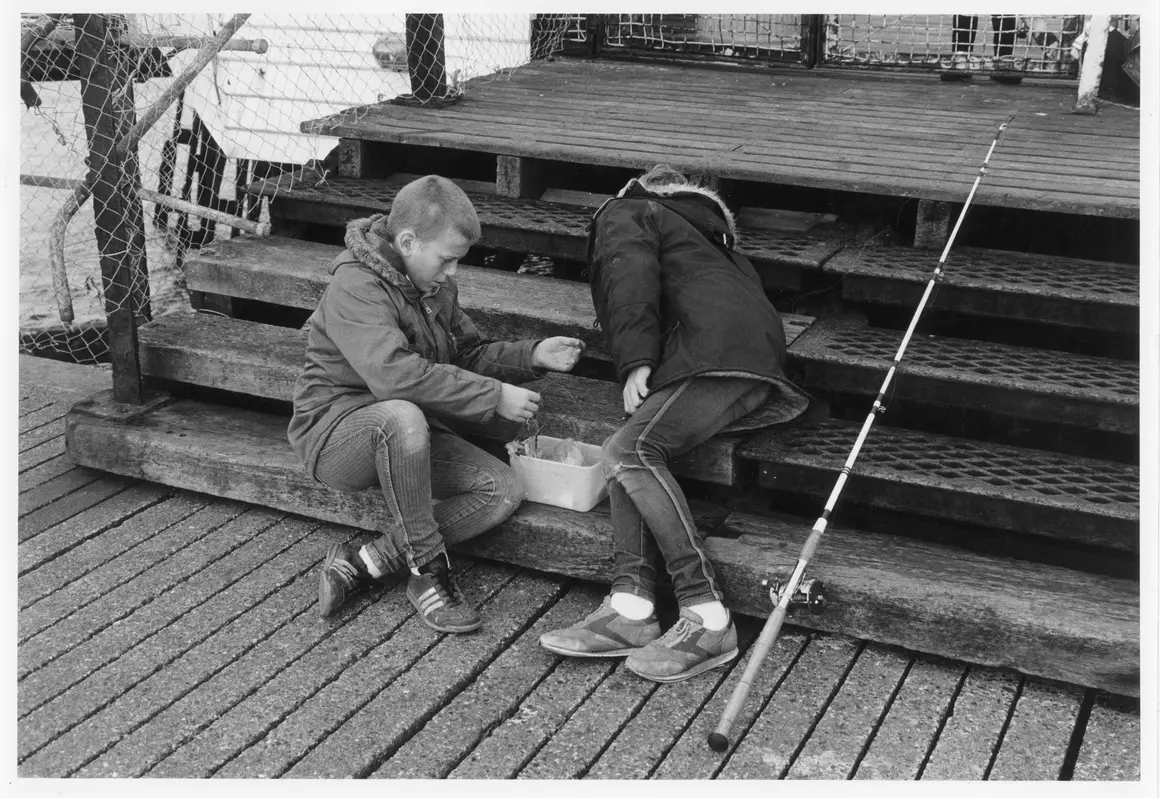
[[[463,190],[428,175],[399,190],[389,216],[351,222],[329,266],[288,436],[314,479],[343,492],[377,486],[391,517],[361,549],[329,547],[322,617],[360,581],[407,570],[407,597],[427,625],[481,624],[455,585],[447,546],[505,521],[523,489],[505,463],[455,430],[506,425],[514,434],[541,400],[514,383],[571,370],[582,343],[481,339],[455,283],[479,235]]]

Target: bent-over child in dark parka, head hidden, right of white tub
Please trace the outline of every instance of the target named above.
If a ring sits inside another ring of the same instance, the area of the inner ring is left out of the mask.
[[[782,423],[810,397],[782,371],[785,333],[733,246],[733,215],[711,190],[659,165],[593,217],[588,277],[622,383],[626,423],[603,447],[615,575],[587,618],[541,637],[566,656],[628,656],[658,682],[738,654],[737,631],[668,463],[718,431]],[[661,634],[661,559],[680,607]]]

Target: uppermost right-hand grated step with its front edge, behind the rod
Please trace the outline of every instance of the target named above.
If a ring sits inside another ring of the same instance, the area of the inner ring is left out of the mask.
[[[916,307],[938,254],[905,247],[849,247],[822,268],[844,277],[842,296],[847,299]],[[1140,324],[1139,271],[1130,263],[956,247],[930,306],[1133,333]]]

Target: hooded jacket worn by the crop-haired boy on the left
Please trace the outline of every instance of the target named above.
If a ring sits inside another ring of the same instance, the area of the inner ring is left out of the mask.
[[[331,430],[351,411],[406,399],[435,426],[481,426],[494,418],[501,383],[544,373],[531,365],[538,341],[483,341],[452,278],[421,295],[398,254],[370,233],[379,218],[348,225],[347,248],[331,263],[310,317],[288,437],[311,476]]]

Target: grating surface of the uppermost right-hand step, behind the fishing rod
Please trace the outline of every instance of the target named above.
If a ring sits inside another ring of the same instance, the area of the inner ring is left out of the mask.
[[[926,283],[938,254],[905,247],[848,248],[827,271]],[[947,257],[942,284],[1008,293],[1139,307],[1139,267],[1131,263],[958,247]]]

